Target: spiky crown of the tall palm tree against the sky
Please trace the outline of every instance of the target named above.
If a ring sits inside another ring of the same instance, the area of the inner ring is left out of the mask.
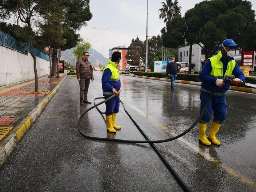
[[[179,1],[175,0],[172,2],[172,0],[166,0],[165,2],[162,2],[162,8],[159,9],[159,19],[164,19],[164,22],[167,22],[171,20],[176,15],[181,15],[181,8],[178,6]]]

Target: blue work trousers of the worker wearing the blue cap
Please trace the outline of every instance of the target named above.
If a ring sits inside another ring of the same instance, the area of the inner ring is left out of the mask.
[[[210,93],[201,91],[200,100],[201,100],[201,106],[200,106],[200,113],[202,112],[208,98],[210,96]],[[222,122],[225,121],[227,116],[227,105],[226,105],[226,94],[225,95],[213,95],[211,98],[211,101],[206,109],[206,111],[203,114],[203,117],[199,121],[200,123],[207,123],[211,119],[211,113],[213,110],[213,120],[219,124],[222,124]]]

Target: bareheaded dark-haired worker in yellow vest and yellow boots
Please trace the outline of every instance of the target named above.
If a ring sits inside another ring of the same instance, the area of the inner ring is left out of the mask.
[[[117,132],[116,129],[121,129],[120,126],[116,125],[116,117],[120,106],[120,93],[117,93],[117,91],[121,88],[121,81],[119,79],[119,73],[117,70],[117,66],[120,61],[121,53],[114,52],[111,60],[109,60],[109,64],[104,68],[101,78],[104,98],[108,99],[113,94],[116,94],[116,97],[105,102],[107,130],[109,132]]]

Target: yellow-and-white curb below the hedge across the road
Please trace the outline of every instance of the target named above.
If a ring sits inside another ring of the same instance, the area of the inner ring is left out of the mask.
[[[132,74],[120,74],[120,75],[126,75],[126,76],[131,76],[131,77],[139,77],[139,78],[144,78],[144,79],[152,79],[152,80],[158,80],[158,81],[171,82],[171,79],[159,78],[159,77],[146,77],[146,76],[139,76],[139,75],[132,75]],[[191,85],[201,85],[201,82],[195,82],[195,81],[175,80],[174,82],[175,83],[191,84]],[[253,89],[253,88],[230,86],[229,89],[236,90],[236,91],[249,92],[249,93],[256,93],[256,89]]]

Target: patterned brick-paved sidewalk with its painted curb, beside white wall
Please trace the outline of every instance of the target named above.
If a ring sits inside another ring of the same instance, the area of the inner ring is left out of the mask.
[[[51,84],[49,77],[39,78],[39,93],[33,93],[34,80],[0,88],[0,168],[66,77],[66,73],[53,77]]]

